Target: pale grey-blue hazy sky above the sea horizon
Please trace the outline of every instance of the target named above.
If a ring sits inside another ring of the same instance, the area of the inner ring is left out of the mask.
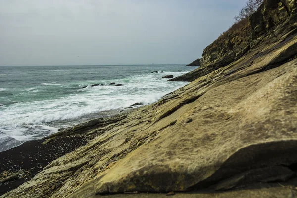
[[[187,64],[246,0],[0,0],[0,66]]]

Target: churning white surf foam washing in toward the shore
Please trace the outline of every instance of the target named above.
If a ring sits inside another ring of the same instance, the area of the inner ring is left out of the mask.
[[[2,132],[0,137],[10,136],[19,141],[32,140],[57,132],[56,128],[46,126],[45,123],[73,119],[99,111],[123,109],[137,102],[153,103],[187,84],[187,82],[167,82],[168,79],[162,79],[162,76],[178,76],[184,73],[187,71],[164,71],[125,79],[105,80],[100,82],[104,86],[88,86],[66,97],[11,104],[0,111],[0,132]],[[111,82],[124,86],[109,85]],[[36,88],[30,89],[30,91],[36,90]]]

